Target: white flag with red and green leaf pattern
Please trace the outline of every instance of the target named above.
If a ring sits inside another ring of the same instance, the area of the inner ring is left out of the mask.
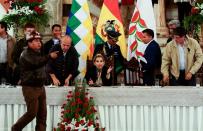
[[[154,39],[156,40],[156,25],[152,1],[137,0],[129,26],[128,60],[132,57],[136,57],[138,60],[146,62],[142,57],[146,49],[146,44],[143,44],[141,40],[142,31],[146,28],[150,28],[154,31]]]

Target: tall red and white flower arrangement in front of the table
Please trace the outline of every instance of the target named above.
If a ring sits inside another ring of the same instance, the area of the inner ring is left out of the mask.
[[[69,91],[61,110],[61,121],[54,131],[104,131],[99,128],[94,99],[85,86]]]

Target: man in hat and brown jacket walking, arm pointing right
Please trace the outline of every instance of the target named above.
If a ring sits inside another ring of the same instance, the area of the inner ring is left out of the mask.
[[[41,36],[36,31],[27,34],[26,41],[28,47],[20,56],[20,78],[27,112],[12,126],[12,131],[22,131],[35,117],[35,130],[46,131],[45,64],[49,58],[56,58],[57,52],[42,56]]]

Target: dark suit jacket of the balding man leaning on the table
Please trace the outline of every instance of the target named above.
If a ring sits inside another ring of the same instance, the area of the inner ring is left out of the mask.
[[[54,45],[50,52],[59,51],[58,57],[54,60],[50,60],[47,64],[47,72],[55,74],[59,79],[61,85],[64,85],[65,79],[69,74],[72,75],[72,80],[78,75],[78,53],[76,49],[71,46],[66,55],[63,55],[61,45]]]

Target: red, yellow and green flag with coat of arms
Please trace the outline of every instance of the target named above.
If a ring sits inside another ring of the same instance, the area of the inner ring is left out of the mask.
[[[113,22],[113,28],[121,33],[117,44],[120,46],[122,55],[126,58],[126,41],[123,29],[123,24],[121,21],[121,15],[118,7],[118,0],[104,0],[102,5],[98,25],[96,28],[95,44],[102,44],[107,40],[106,27],[109,22]],[[95,45],[96,46],[96,45]]]

